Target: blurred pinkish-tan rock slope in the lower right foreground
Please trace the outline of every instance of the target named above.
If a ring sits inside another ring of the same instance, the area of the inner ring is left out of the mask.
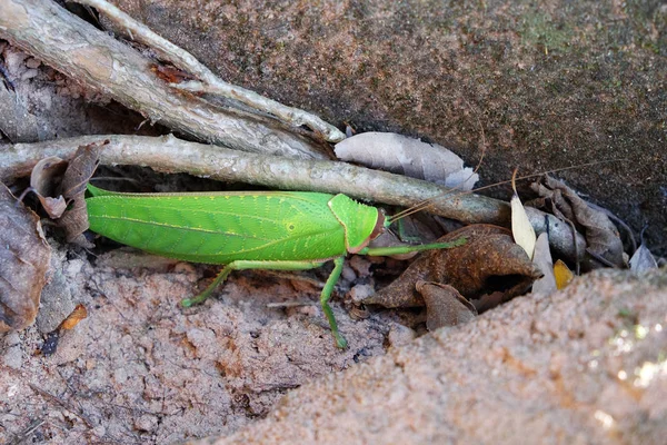
[[[191,444],[663,444],[667,270],[604,271],[289,393]]]

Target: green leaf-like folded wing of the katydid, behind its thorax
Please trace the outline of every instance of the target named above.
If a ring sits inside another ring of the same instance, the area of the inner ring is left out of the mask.
[[[87,199],[90,229],[166,257],[209,264],[344,255],[331,195],[110,195]]]

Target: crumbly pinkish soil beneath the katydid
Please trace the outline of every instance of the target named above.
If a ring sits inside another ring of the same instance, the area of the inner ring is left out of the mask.
[[[4,337],[6,439],[34,422],[40,426],[28,437],[49,443],[226,435],[265,416],[289,389],[385,350],[392,322],[355,322],[335,304],[350,343],[337,349],[310,283],[235,274],[220,297],[183,310],[178,303],[192,295],[201,269],[138,255],[112,251],[93,266],[81,253],[56,250],[57,290],[43,295],[56,301],[42,303],[36,326]],[[151,266],[128,269],[132,261]],[[303,306],[267,307],[293,303],[295,294]],[[62,334],[53,355],[41,356],[43,333],[53,328],[44,318],[58,319],[72,301],[89,317]],[[49,315],[44,305],[60,310]]]

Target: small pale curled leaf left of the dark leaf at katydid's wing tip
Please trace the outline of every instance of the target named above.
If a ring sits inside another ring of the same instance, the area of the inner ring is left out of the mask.
[[[64,197],[56,191],[62,181],[67,165],[66,160],[50,156],[37,162],[30,174],[30,187],[51,219],[60,218],[67,208]]]

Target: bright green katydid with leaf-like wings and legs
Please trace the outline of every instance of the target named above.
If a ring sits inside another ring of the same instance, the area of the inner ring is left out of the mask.
[[[176,259],[223,265],[201,294],[181,301],[203,301],[231,270],[303,270],[334,260],[320,295],[336,345],[338,332],[329,298],[347,254],[387,256],[460,246],[435,243],[369,248],[390,218],[345,195],[308,191],[120,194],[88,186],[90,229],[116,241]]]

